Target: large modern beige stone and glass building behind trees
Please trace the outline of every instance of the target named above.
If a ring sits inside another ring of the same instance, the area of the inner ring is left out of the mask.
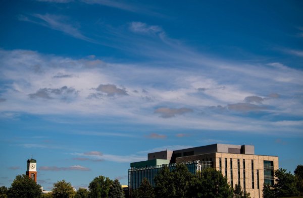
[[[213,167],[220,171],[232,187],[240,184],[251,197],[261,198],[263,183],[274,183],[274,170],[279,168],[277,156],[255,155],[255,146],[214,144],[176,151],[148,153],[146,161],[131,163],[129,187],[136,189],[146,177],[155,186],[154,177],[168,166],[184,163],[193,174]]]

